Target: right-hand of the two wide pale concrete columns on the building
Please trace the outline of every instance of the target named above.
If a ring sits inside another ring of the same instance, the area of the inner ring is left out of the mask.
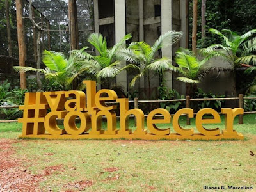
[[[161,0],[161,33],[172,30],[172,0]],[[162,49],[162,56],[172,58],[172,46]],[[172,89],[172,71],[164,73],[167,88]]]

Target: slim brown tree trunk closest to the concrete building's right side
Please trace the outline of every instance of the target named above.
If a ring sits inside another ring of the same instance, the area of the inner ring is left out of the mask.
[[[197,17],[198,17],[198,0],[193,0],[193,29],[192,29],[192,51],[196,56],[196,44],[197,44]]]

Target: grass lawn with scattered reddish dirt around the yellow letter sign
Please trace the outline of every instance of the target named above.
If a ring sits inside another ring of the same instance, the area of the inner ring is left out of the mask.
[[[256,191],[256,115],[237,122],[243,141],[21,140],[21,124],[2,123],[0,191]]]

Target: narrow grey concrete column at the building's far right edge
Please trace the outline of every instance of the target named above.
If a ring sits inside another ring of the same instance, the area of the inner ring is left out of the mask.
[[[180,47],[187,48],[187,2],[185,0],[180,1],[180,31],[183,32],[183,36],[180,39]],[[186,83],[180,83],[180,93],[186,95]]]

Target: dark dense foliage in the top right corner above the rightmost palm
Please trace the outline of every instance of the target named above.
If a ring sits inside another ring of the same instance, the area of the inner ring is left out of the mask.
[[[190,15],[192,15],[193,1],[190,1]],[[201,47],[201,0],[198,1],[198,48]],[[238,34],[244,34],[256,29],[255,0],[207,0],[206,3],[206,29],[230,29]],[[192,29],[192,18],[189,17]],[[190,38],[191,39],[191,38]],[[207,33],[205,45],[218,44],[221,38]]]

